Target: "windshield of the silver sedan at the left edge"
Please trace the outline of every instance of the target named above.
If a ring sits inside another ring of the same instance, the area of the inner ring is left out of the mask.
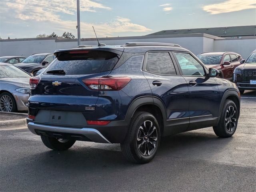
[[[0,78],[31,77],[29,74],[13,65],[0,65]]]

